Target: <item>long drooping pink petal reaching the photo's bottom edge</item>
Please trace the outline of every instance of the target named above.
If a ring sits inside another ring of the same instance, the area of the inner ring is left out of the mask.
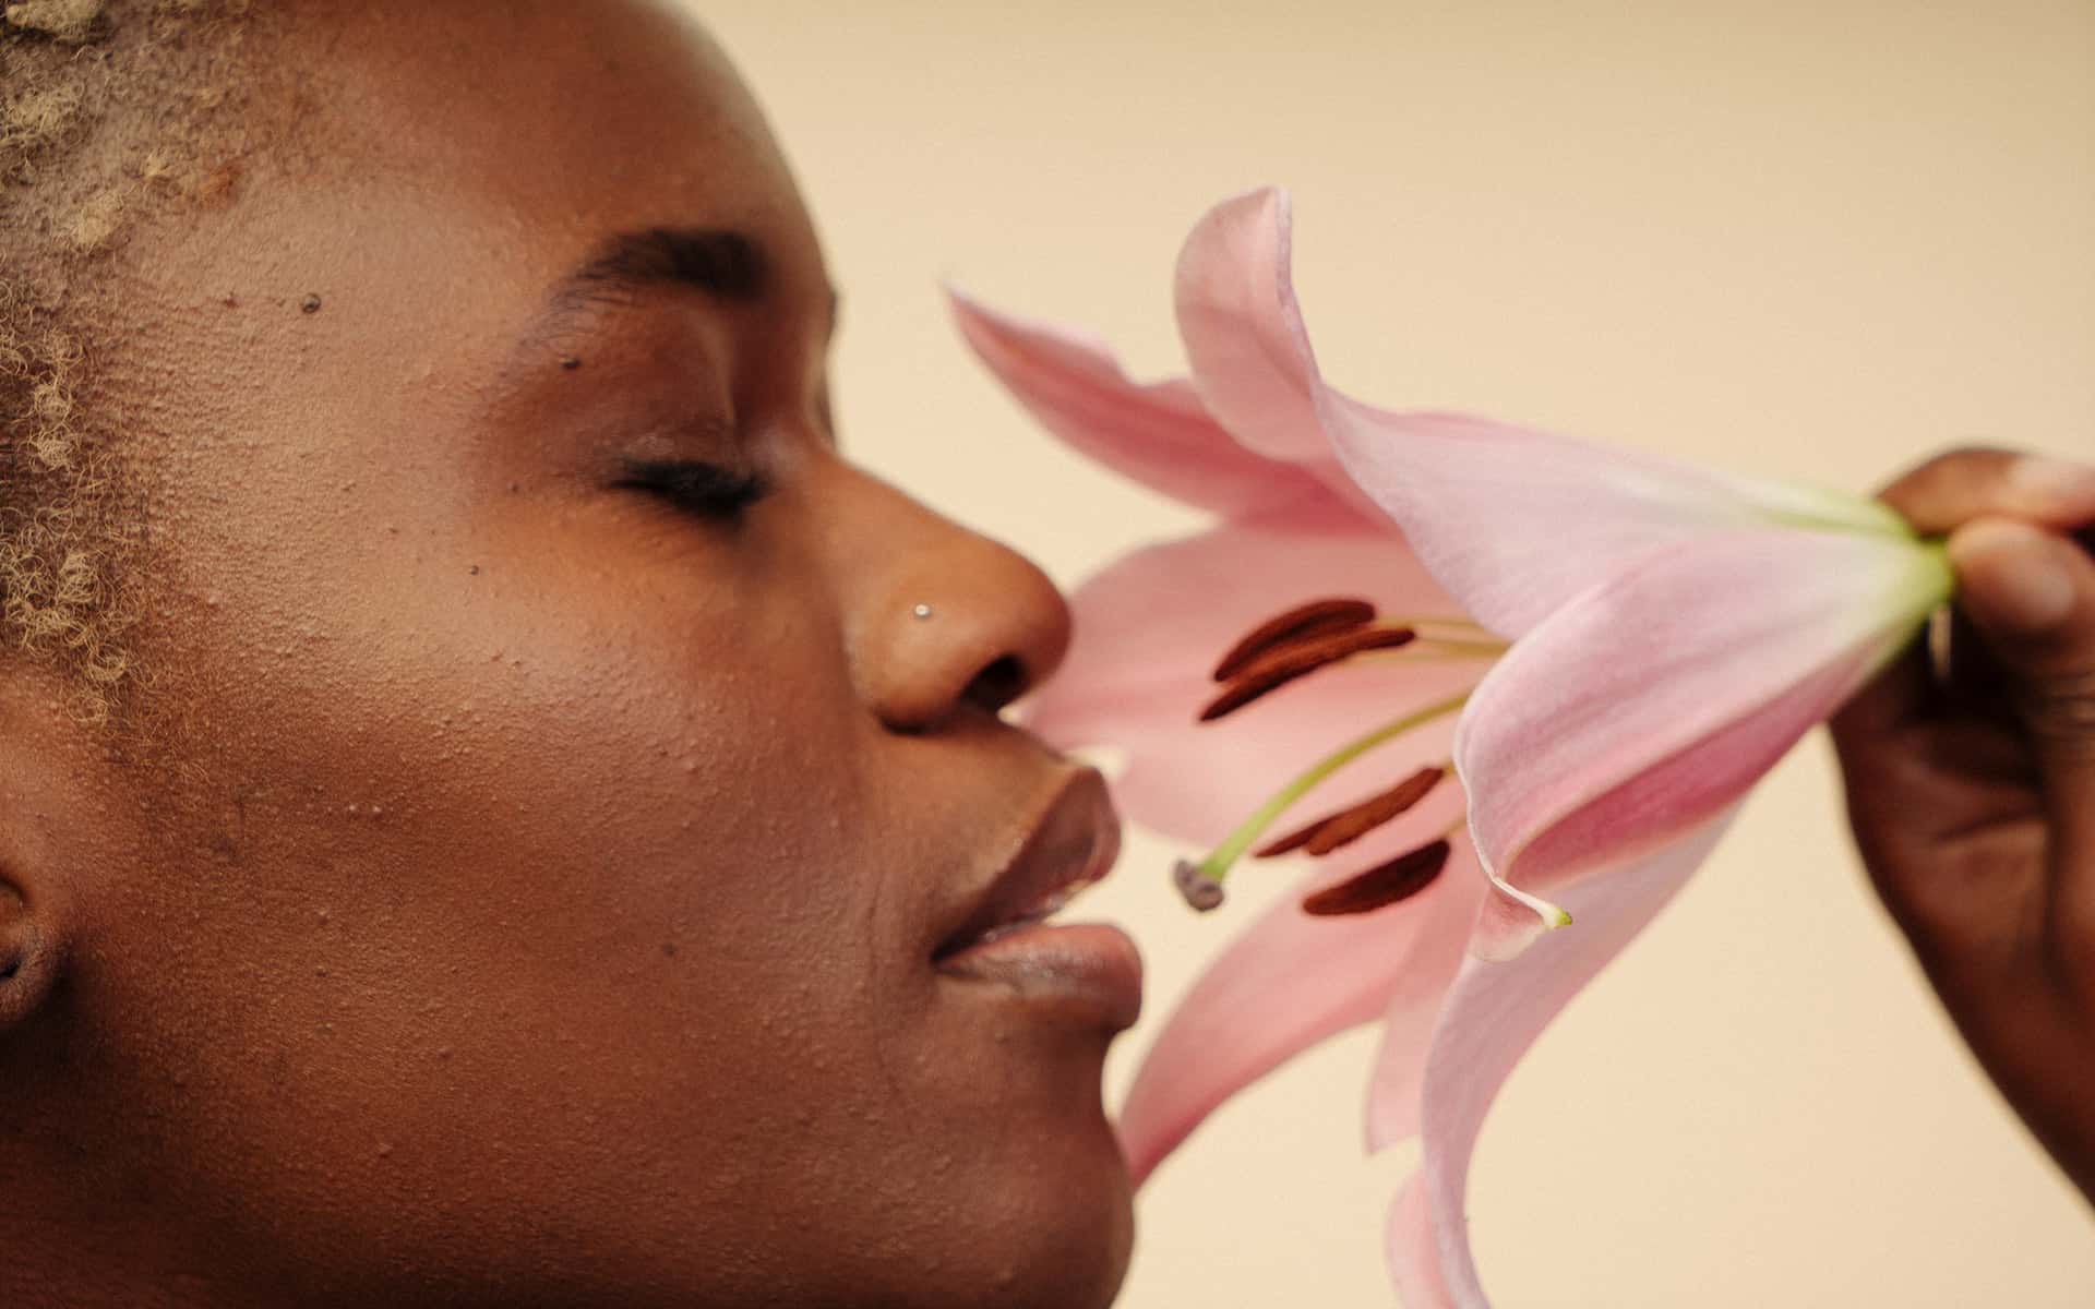
[[[1462,963],[1427,1058],[1425,1158],[1397,1196],[1389,1265],[1410,1309],[1490,1309],[1469,1248],[1469,1160],[1483,1116],[1542,1028],[1586,986],[1686,882],[1730,821],[1720,813],[1645,859],[1565,890],[1573,926],[1550,932],[1510,963]],[[1376,1070],[1370,1137],[1408,1127],[1381,1121],[1385,1079],[1404,1085],[1410,1060]],[[1402,1104],[1404,1095],[1393,1097]]]

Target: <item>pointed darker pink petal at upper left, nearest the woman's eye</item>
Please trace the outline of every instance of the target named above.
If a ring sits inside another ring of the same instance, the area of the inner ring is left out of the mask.
[[[1144,486],[1228,517],[1330,498],[1322,480],[1247,450],[1188,381],[1135,383],[1098,341],[997,314],[949,293],[989,371],[1048,431]]]

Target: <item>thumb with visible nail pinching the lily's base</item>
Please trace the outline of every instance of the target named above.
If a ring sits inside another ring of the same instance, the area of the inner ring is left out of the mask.
[[[1948,555],[1959,603],[2013,683],[2053,821],[2095,840],[2095,557],[1999,517],[1959,528]]]

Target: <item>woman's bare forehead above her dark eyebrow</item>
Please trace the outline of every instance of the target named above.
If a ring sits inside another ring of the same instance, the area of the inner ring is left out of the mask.
[[[763,113],[681,6],[314,0],[289,6],[281,50],[327,172],[507,232],[509,260],[553,272],[612,230],[702,226],[819,276]]]

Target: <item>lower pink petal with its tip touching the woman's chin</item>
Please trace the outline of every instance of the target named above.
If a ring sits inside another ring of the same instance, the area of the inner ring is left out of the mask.
[[[1200,974],[1144,1053],[1121,1108],[1121,1150],[1135,1181],[1223,1100],[1318,1041],[1387,1012],[1412,1018],[1425,1035],[1490,886],[1469,844],[1433,886],[1376,913],[1311,917],[1301,898],[1427,840],[1435,819],[1458,808],[1450,787],[1450,800],[1318,865]],[[1423,1039],[1418,1053],[1423,1062]]]

